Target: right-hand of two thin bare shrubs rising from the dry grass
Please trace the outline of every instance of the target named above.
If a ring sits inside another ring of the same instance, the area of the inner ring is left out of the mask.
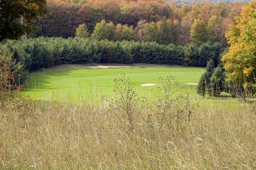
[[[160,77],[160,81],[162,85],[152,89],[154,102],[149,117],[154,117],[150,119],[155,120],[154,125],[160,131],[167,128],[175,133],[183,132],[191,120],[191,97],[181,93],[183,86],[174,77]]]

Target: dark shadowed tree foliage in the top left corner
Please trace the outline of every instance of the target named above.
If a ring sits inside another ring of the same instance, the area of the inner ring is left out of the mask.
[[[31,25],[46,14],[46,0],[0,0],[0,42],[35,30]]]

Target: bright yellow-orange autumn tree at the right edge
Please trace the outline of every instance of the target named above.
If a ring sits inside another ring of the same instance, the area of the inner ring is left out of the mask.
[[[231,24],[226,38],[229,52],[222,57],[227,81],[254,87],[256,76],[256,1],[243,6],[236,24]]]

